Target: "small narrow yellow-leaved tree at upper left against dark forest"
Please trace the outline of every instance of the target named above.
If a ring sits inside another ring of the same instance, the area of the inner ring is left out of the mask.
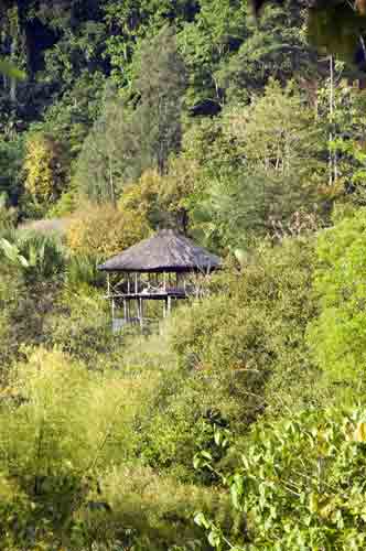
[[[62,187],[60,145],[43,132],[31,134],[25,143],[24,186],[36,202],[55,199]]]

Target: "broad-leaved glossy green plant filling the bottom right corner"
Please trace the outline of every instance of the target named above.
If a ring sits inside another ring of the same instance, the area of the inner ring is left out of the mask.
[[[238,532],[201,514],[218,550],[362,549],[365,411],[305,410],[255,426],[238,466],[222,473]]]

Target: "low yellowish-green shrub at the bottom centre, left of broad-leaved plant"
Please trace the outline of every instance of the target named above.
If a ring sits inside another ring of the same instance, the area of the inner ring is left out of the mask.
[[[106,540],[116,527],[128,527],[138,537],[138,549],[160,551],[175,544],[193,544],[201,536],[192,518],[197,509],[226,523],[227,495],[161,476],[143,466],[112,467],[100,478],[103,496],[111,515],[80,510],[89,533]],[[134,548],[133,548],[134,549]],[[189,547],[189,549],[192,549]],[[205,549],[205,547],[193,548]]]

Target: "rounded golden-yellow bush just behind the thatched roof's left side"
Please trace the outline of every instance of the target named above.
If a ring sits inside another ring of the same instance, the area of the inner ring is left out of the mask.
[[[67,229],[67,242],[75,253],[109,257],[149,235],[139,213],[121,212],[112,205],[87,205],[78,210]]]

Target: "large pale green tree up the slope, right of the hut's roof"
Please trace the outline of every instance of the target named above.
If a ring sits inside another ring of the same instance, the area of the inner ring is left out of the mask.
[[[220,125],[197,215],[222,245],[269,233],[299,209],[322,213],[323,136],[291,85],[282,90],[271,82],[251,106],[228,109]]]

